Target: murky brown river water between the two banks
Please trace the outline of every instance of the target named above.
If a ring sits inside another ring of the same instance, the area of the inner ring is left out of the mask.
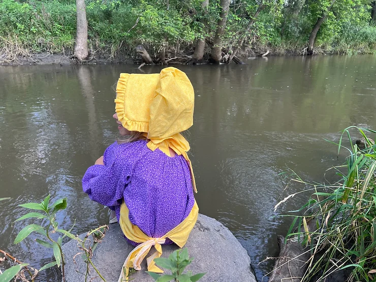
[[[107,223],[103,207],[82,192],[81,177],[116,138],[113,85],[121,72],[161,68],[0,67],[0,197],[12,198],[0,202],[1,249],[35,267],[49,261],[52,252],[34,235],[12,243],[33,222],[13,223],[25,212],[17,205],[49,193],[53,200],[68,198],[57,216],[61,227],[76,221],[73,232],[82,233]],[[271,57],[242,66],[178,68],[196,93],[189,140],[200,212],[234,233],[261,280],[274,261],[260,262],[278,254],[276,234],[285,235],[291,223],[277,215],[307,198],[297,195],[274,211],[284,197],[305,189],[278,174],[290,168],[304,180],[323,181],[328,168],[344,161],[324,139],[337,142],[352,125],[376,129],[376,56]]]

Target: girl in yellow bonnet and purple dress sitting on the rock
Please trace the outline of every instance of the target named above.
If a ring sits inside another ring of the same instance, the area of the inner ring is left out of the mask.
[[[163,272],[153,259],[161,244],[182,247],[198,216],[189,143],[180,132],[193,124],[194,90],[185,73],[166,68],[160,74],[120,74],[116,87],[120,135],[94,166],[87,169],[83,191],[91,200],[109,206],[126,239],[136,246],[124,267]],[[122,272],[122,271],[121,271]],[[121,273],[119,281],[124,277]]]

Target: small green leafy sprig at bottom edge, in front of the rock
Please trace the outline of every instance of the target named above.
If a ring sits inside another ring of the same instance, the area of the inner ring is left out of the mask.
[[[189,258],[188,249],[177,249],[173,252],[168,259],[158,258],[154,259],[155,264],[169,269],[172,274],[161,275],[154,272],[146,271],[155,281],[157,282],[168,282],[174,280],[176,282],[195,282],[198,281],[205,273],[198,273],[193,275],[192,271],[187,271],[183,273],[185,267],[190,265],[193,258]]]

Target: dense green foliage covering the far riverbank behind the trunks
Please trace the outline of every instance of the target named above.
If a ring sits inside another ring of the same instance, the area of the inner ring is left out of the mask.
[[[376,27],[371,0],[336,0],[316,38],[318,52],[373,53]],[[262,11],[254,18],[262,5]],[[301,53],[328,0],[231,0],[222,47]],[[221,12],[219,0],[87,0],[91,56],[130,55],[142,43],[150,53],[193,53],[204,38],[207,49]],[[72,0],[0,1],[0,56],[6,52],[72,52],[76,5]],[[252,27],[249,22],[255,19]],[[1,51],[3,49],[3,52]],[[206,54],[210,53],[206,50]]]

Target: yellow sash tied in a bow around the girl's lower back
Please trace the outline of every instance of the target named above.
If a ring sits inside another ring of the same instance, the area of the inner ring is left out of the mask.
[[[136,243],[140,243],[135,247],[132,252],[128,255],[126,261],[124,262],[121,268],[121,274],[118,282],[121,282],[124,277],[128,277],[129,269],[134,268],[136,270],[141,269],[141,262],[149,253],[152,246],[155,247],[156,252],[146,259],[147,261],[147,270],[163,273],[163,270],[158,268],[154,259],[159,258],[162,255],[162,246],[166,241],[166,238],[172,240],[180,248],[183,247],[196,224],[197,217],[199,214],[199,207],[195,201],[195,204],[190,212],[190,214],[183,220],[178,226],[166,233],[161,238],[151,238],[143,233],[140,228],[136,225],[133,225],[129,220],[129,209],[127,205],[123,202],[120,206],[120,228],[126,237]],[[126,268],[126,273],[124,276],[124,267]]]

